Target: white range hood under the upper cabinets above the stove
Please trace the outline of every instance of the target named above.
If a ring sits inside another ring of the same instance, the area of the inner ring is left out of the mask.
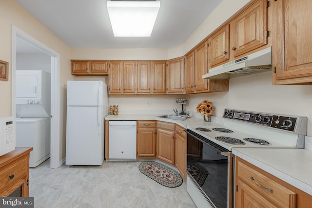
[[[209,73],[203,75],[203,79],[230,79],[231,77],[255,74],[271,70],[271,65],[272,47],[268,47],[209,69]]]

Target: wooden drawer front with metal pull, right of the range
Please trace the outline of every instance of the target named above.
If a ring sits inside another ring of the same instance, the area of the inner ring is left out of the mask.
[[[295,207],[297,194],[238,160],[237,176],[250,187],[281,207]]]

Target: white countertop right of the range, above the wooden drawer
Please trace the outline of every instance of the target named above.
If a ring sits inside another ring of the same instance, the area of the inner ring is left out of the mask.
[[[312,195],[311,150],[233,148],[232,153]]]

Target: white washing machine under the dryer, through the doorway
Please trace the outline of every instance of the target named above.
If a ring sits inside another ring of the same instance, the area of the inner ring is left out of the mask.
[[[16,118],[16,146],[33,147],[29,166],[36,167],[50,157],[50,118]]]

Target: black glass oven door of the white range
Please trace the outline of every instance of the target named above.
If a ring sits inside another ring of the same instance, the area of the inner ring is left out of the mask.
[[[188,176],[212,207],[232,208],[232,153],[189,129],[185,131]]]

